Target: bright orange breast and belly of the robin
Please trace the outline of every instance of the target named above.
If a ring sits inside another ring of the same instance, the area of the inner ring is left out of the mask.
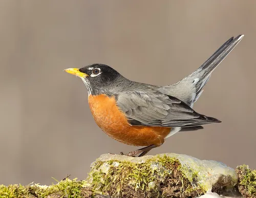
[[[88,102],[97,125],[119,142],[134,146],[161,145],[170,132],[167,127],[131,126],[114,97],[90,95]]]

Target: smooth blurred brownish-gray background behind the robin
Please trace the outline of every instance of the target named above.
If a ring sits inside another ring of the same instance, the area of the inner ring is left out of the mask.
[[[134,81],[172,84],[238,34],[194,106],[222,123],[149,154],[255,169],[255,19],[255,1],[0,1],[0,184],[84,179],[102,153],[137,149],[98,128],[86,87],[63,69],[105,63]]]

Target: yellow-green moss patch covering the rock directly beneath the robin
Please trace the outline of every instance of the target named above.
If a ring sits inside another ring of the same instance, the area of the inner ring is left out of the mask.
[[[166,155],[143,163],[98,160],[92,165],[88,181],[95,193],[118,197],[187,197],[206,192],[191,185],[177,158]]]

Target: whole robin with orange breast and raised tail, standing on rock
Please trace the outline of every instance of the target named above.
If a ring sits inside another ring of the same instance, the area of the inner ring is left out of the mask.
[[[210,74],[244,35],[227,40],[199,69],[181,81],[156,86],[131,81],[105,64],[91,64],[65,71],[82,79],[97,125],[115,140],[146,146],[127,153],[145,155],[178,131],[202,129],[220,120],[194,111]]]

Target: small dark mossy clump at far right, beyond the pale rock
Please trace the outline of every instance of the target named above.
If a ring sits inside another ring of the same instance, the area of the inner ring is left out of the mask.
[[[238,189],[244,197],[256,197],[256,170],[251,170],[248,165],[237,167]]]

